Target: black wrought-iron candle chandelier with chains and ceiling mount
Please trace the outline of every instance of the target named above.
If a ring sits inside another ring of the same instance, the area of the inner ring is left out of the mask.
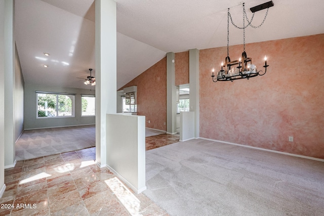
[[[245,29],[250,25],[253,28],[259,28],[265,21],[269,8],[273,6],[273,2],[267,2],[261,5],[258,5],[256,7],[251,8],[251,12],[253,13],[251,20],[248,19],[246,10],[245,10],[245,3],[243,3],[243,27],[238,27],[237,25],[234,24],[232,17],[229,13],[229,9],[227,11],[227,57],[225,58],[225,64],[222,62],[221,63],[221,70],[218,71],[217,76],[215,77],[214,75],[214,68],[212,70],[213,75],[213,81],[233,81],[235,79],[244,79],[247,78],[249,79],[250,77],[255,77],[255,76],[262,76],[267,72],[267,57],[264,56],[264,72],[262,70],[258,71],[256,65],[252,64],[252,58],[248,58],[247,53],[245,52]],[[254,17],[254,13],[263,9],[267,8],[267,12],[265,14],[265,17],[262,21],[262,23],[259,26],[254,26],[252,25],[252,20]],[[231,61],[229,58],[229,53],[228,53],[228,47],[229,47],[229,20],[231,20],[231,23],[239,29],[243,29],[243,53],[242,56],[235,61]],[[245,25],[245,20],[248,21],[248,24]]]

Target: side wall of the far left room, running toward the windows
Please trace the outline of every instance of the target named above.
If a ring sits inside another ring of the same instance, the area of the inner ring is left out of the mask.
[[[22,75],[18,51],[16,48],[15,59],[15,98],[14,98],[14,119],[15,119],[15,141],[18,140],[24,131],[24,77]]]

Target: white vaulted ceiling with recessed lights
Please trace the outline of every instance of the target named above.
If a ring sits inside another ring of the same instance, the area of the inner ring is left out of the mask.
[[[247,1],[248,16],[251,7],[265,2]],[[226,46],[228,8],[233,21],[242,25],[243,1],[238,0],[116,3],[117,89],[168,52]],[[273,3],[264,25],[246,29],[247,43],[324,33],[323,1]],[[15,39],[25,82],[89,89],[82,78],[89,75],[89,68],[95,71],[94,0],[16,0],[15,9]],[[265,12],[255,13],[255,25]],[[236,44],[242,44],[242,31],[230,24],[230,45]]]

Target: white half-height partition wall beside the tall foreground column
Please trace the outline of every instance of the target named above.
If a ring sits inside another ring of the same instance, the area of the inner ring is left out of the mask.
[[[145,186],[145,116],[107,114],[107,167],[135,192]]]

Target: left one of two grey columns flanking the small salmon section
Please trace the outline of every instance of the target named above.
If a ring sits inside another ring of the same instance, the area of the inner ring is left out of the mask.
[[[167,53],[167,133],[176,134],[176,78],[174,66],[174,53]]]

